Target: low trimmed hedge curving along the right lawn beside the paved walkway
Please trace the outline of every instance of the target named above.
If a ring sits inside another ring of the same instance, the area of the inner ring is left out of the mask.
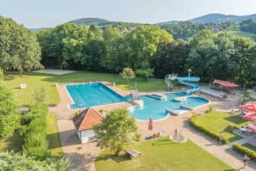
[[[195,127],[196,130],[201,131],[204,134],[208,134],[210,137],[216,139],[217,141],[220,141],[219,134],[217,134],[217,133],[209,130],[207,127],[204,127],[204,126],[197,123],[197,117],[198,117],[197,115],[193,115],[190,118],[189,122],[190,122],[191,126]],[[224,137],[221,142],[223,144],[228,144],[230,141],[229,141],[228,138]]]

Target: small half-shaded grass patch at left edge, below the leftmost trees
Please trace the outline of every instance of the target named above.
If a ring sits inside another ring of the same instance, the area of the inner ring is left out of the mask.
[[[19,134],[14,134],[10,138],[0,140],[0,152],[14,150],[15,152],[21,152],[23,150],[23,138]]]

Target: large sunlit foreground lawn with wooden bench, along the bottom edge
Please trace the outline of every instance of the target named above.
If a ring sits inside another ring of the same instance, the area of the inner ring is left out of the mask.
[[[125,145],[125,149],[142,152],[129,159],[124,152],[114,157],[114,152],[105,150],[96,159],[97,170],[233,170],[216,156],[195,145],[192,141],[174,143],[169,137],[157,138]]]

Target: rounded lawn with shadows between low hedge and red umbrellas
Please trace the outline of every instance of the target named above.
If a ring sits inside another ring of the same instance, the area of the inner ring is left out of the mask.
[[[230,142],[241,139],[237,134],[233,134],[231,126],[242,127],[245,124],[251,124],[251,121],[244,120],[238,115],[225,113],[221,111],[213,111],[198,117],[198,124],[208,127],[213,132],[223,134],[229,138]]]

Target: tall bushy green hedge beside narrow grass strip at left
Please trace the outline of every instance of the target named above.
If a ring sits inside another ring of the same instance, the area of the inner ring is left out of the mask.
[[[30,106],[30,113],[24,116],[27,131],[24,135],[23,152],[44,160],[49,157],[47,142],[47,105],[35,103]]]

